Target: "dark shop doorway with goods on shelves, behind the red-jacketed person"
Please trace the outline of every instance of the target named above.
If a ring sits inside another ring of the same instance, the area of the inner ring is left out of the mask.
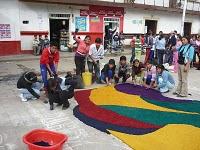
[[[61,51],[69,44],[69,19],[49,19],[50,41],[56,42]]]

